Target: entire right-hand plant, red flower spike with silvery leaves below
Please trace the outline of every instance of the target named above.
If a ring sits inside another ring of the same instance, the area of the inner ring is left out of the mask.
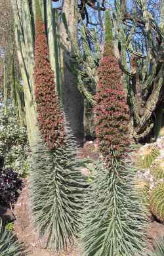
[[[86,193],[81,240],[87,256],[142,255],[145,215],[134,190],[135,169],[124,160],[129,148],[129,108],[121,72],[113,54],[112,29],[106,12],[106,43],[98,69],[96,135],[104,160]],[[142,223],[142,224],[141,224]]]

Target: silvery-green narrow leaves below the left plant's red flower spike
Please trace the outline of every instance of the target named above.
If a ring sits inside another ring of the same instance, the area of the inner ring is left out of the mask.
[[[75,161],[75,145],[69,141],[63,148],[47,150],[43,141],[32,150],[31,209],[33,224],[47,247],[61,251],[73,244],[79,230],[82,209],[83,176],[81,163]]]

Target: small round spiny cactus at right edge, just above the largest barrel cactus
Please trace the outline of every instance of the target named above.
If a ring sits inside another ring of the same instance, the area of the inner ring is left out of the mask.
[[[154,161],[150,167],[150,173],[155,179],[164,179],[164,159]]]

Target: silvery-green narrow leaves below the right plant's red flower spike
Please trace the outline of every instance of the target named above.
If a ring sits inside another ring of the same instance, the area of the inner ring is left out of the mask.
[[[98,163],[83,214],[81,237],[85,255],[142,255],[146,214],[134,192],[133,172],[133,167],[124,167],[117,161],[109,169]]]

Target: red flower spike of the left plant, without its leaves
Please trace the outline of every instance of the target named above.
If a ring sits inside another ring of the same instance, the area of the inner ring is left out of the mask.
[[[50,150],[64,145],[64,116],[58,104],[54,85],[54,74],[49,61],[49,49],[45,25],[41,18],[39,4],[36,3],[35,22],[35,102],[37,121],[41,135]]]

